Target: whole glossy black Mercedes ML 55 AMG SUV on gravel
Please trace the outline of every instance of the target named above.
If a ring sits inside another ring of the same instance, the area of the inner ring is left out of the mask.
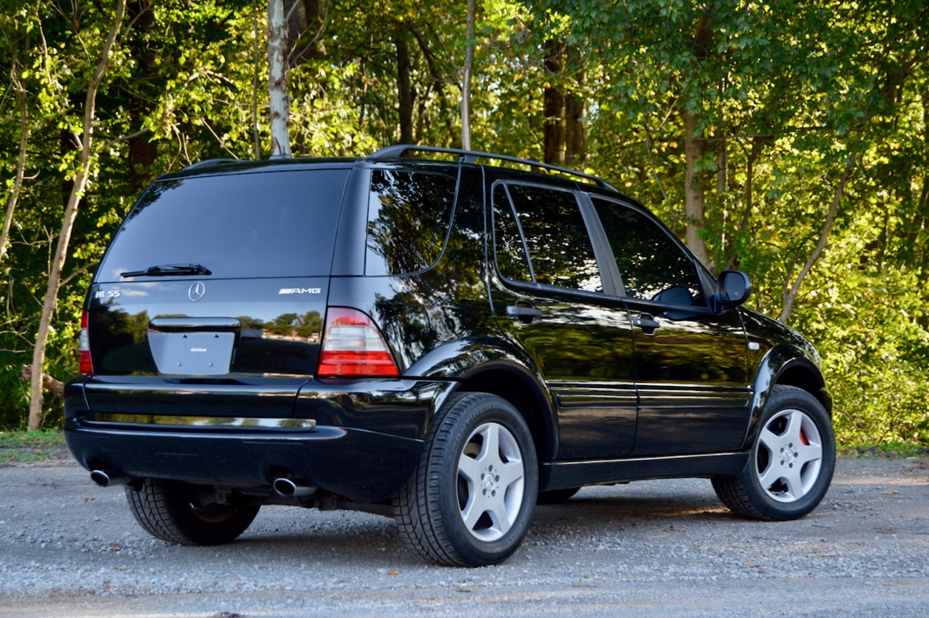
[[[203,162],[152,183],[100,263],[65,436],[185,545],[263,505],[351,508],[425,559],[486,565],[537,501],[672,477],[795,519],[831,481],[831,400],[750,291],[551,165]]]

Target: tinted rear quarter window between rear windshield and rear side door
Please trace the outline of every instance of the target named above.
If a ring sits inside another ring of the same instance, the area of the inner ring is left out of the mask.
[[[374,170],[368,204],[368,275],[418,272],[442,252],[456,179],[431,172]]]

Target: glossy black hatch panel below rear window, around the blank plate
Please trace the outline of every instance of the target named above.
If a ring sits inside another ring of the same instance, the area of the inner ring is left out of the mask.
[[[203,296],[192,301],[190,288],[198,283],[203,285]],[[243,285],[248,287],[244,298]],[[229,372],[216,375],[312,375],[319,362],[328,285],[328,278],[321,277],[177,277],[94,283],[88,304],[91,358],[103,375],[188,375],[184,366],[175,369],[167,360],[164,367],[158,366],[150,334],[230,332],[235,335],[236,353]],[[285,290],[312,293],[283,294]],[[224,323],[158,328],[157,321],[165,319]],[[152,321],[156,322],[154,327]]]

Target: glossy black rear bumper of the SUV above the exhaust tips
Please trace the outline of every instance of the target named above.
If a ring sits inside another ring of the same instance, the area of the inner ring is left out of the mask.
[[[425,380],[302,384],[294,380],[282,387],[267,378],[225,383],[137,376],[74,380],[66,390],[65,438],[87,469],[258,487],[268,493],[271,481],[287,472],[328,492],[372,503],[396,493],[409,478],[422,448],[425,420],[435,413],[433,402],[451,390],[450,382]],[[84,397],[88,392],[94,394],[93,406]],[[203,416],[273,418],[280,428],[229,428],[217,418],[210,425],[184,428],[116,422],[127,411],[175,414],[188,423]],[[294,430],[295,423],[287,419],[312,419],[316,427]]]

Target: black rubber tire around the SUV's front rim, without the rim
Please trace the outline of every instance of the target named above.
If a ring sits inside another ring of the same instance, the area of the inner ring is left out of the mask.
[[[799,410],[806,414],[816,425],[822,443],[822,457],[817,480],[808,493],[791,503],[779,502],[768,495],[758,480],[757,471],[762,430],[772,417],[784,410]],[[829,414],[822,404],[805,390],[780,388],[771,394],[765,404],[765,411],[759,419],[758,429],[755,433],[751,458],[743,472],[746,489],[754,494],[752,502],[769,519],[798,519],[805,516],[816,508],[825,497],[835,469],[835,435]]]

